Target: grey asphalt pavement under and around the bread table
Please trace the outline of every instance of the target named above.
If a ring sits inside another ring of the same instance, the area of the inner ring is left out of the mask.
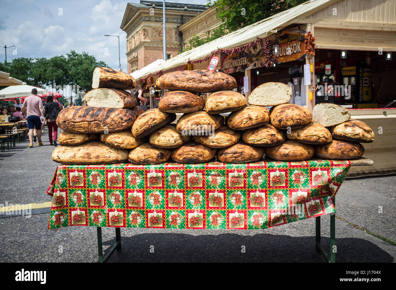
[[[29,148],[26,141],[0,153],[0,204],[51,202],[46,190],[57,163],[46,133],[42,140],[44,146]],[[395,191],[396,176],[344,182],[336,198],[336,262],[395,261]],[[48,212],[0,215],[0,262],[97,262],[96,227],[48,230]],[[329,249],[329,215],[321,224]],[[102,233],[106,252],[115,230]],[[325,262],[315,252],[314,219],[243,231],[122,228],[121,241],[122,253],[109,262]]]

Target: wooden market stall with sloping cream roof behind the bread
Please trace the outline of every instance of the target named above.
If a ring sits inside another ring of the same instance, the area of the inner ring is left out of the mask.
[[[352,167],[350,175],[394,172],[396,109],[384,107],[396,99],[392,80],[396,70],[396,57],[392,60],[396,51],[395,15],[396,0],[307,1],[134,77],[149,87],[172,70],[186,66],[189,70],[206,69],[211,58],[217,56],[221,61],[215,69],[234,76],[238,91],[243,89],[246,98],[257,85],[284,82],[293,87],[291,102],[310,110],[322,100],[344,105],[352,118],[364,121],[375,132],[375,141],[364,144],[364,157],[372,159],[374,166]],[[316,38],[311,54],[304,47],[307,32]],[[264,52],[266,48],[278,50],[272,56],[273,64]],[[310,63],[312,71],[305,75],[310,82],[305,85],[303,64]],[[248,78],[246,88],[244,77]],[[345,86],[345,95],[336,95],[334,90],[333,99],[328,100],[318,90],[313,91],[313,86],[324,82],[326,86],[327,82]]]

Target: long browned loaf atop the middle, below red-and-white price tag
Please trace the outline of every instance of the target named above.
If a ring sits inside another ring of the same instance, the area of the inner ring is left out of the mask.
[[[236,80],[223,72],[211,70],[178,70],[160,76],[157,87],[175,91],[211,93],[232,90],[237,87]]]

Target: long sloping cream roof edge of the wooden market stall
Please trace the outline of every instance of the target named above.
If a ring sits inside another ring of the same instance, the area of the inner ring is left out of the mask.
[[[308,17],[309,15],[312,15],[313,13],[338,1],[339,0],[307,1],[259,22],[253,23],[252,25],[226,34],[225,36],[217,38],[211,42],[190,49],[189,51],[185,51],[176,57],[169,59],[169,61],[166,61],[163,64],[150,68],[148,71],[145,71],[144,74],[143,71],[142,73],[139,72],[139,74],[137,74],[138,71],[136,71],[134,72],[136,74],[133,76],[133,78],[138,79],[150,73],[152,74],[160,70],[168,70],[182,64],[187,64],[188,60],[202,59],[210,55],[212,51],[217,50],[217,48],[225,49],[237,47],[249,42],[253,42],[256,40],[257,36],[260,38],[265,38],[273,33],[276,33],[278,29],[291,25],[296,21]],[[141,70],[143,70],[143,68]]]

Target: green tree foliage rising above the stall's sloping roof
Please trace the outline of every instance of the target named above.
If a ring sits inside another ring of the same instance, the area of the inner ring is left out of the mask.
[[[307,0],[209,0],[208,5],[216,6],[217,18],[224,22],[224,27],[229,32],[233,32],[305,1]]]

